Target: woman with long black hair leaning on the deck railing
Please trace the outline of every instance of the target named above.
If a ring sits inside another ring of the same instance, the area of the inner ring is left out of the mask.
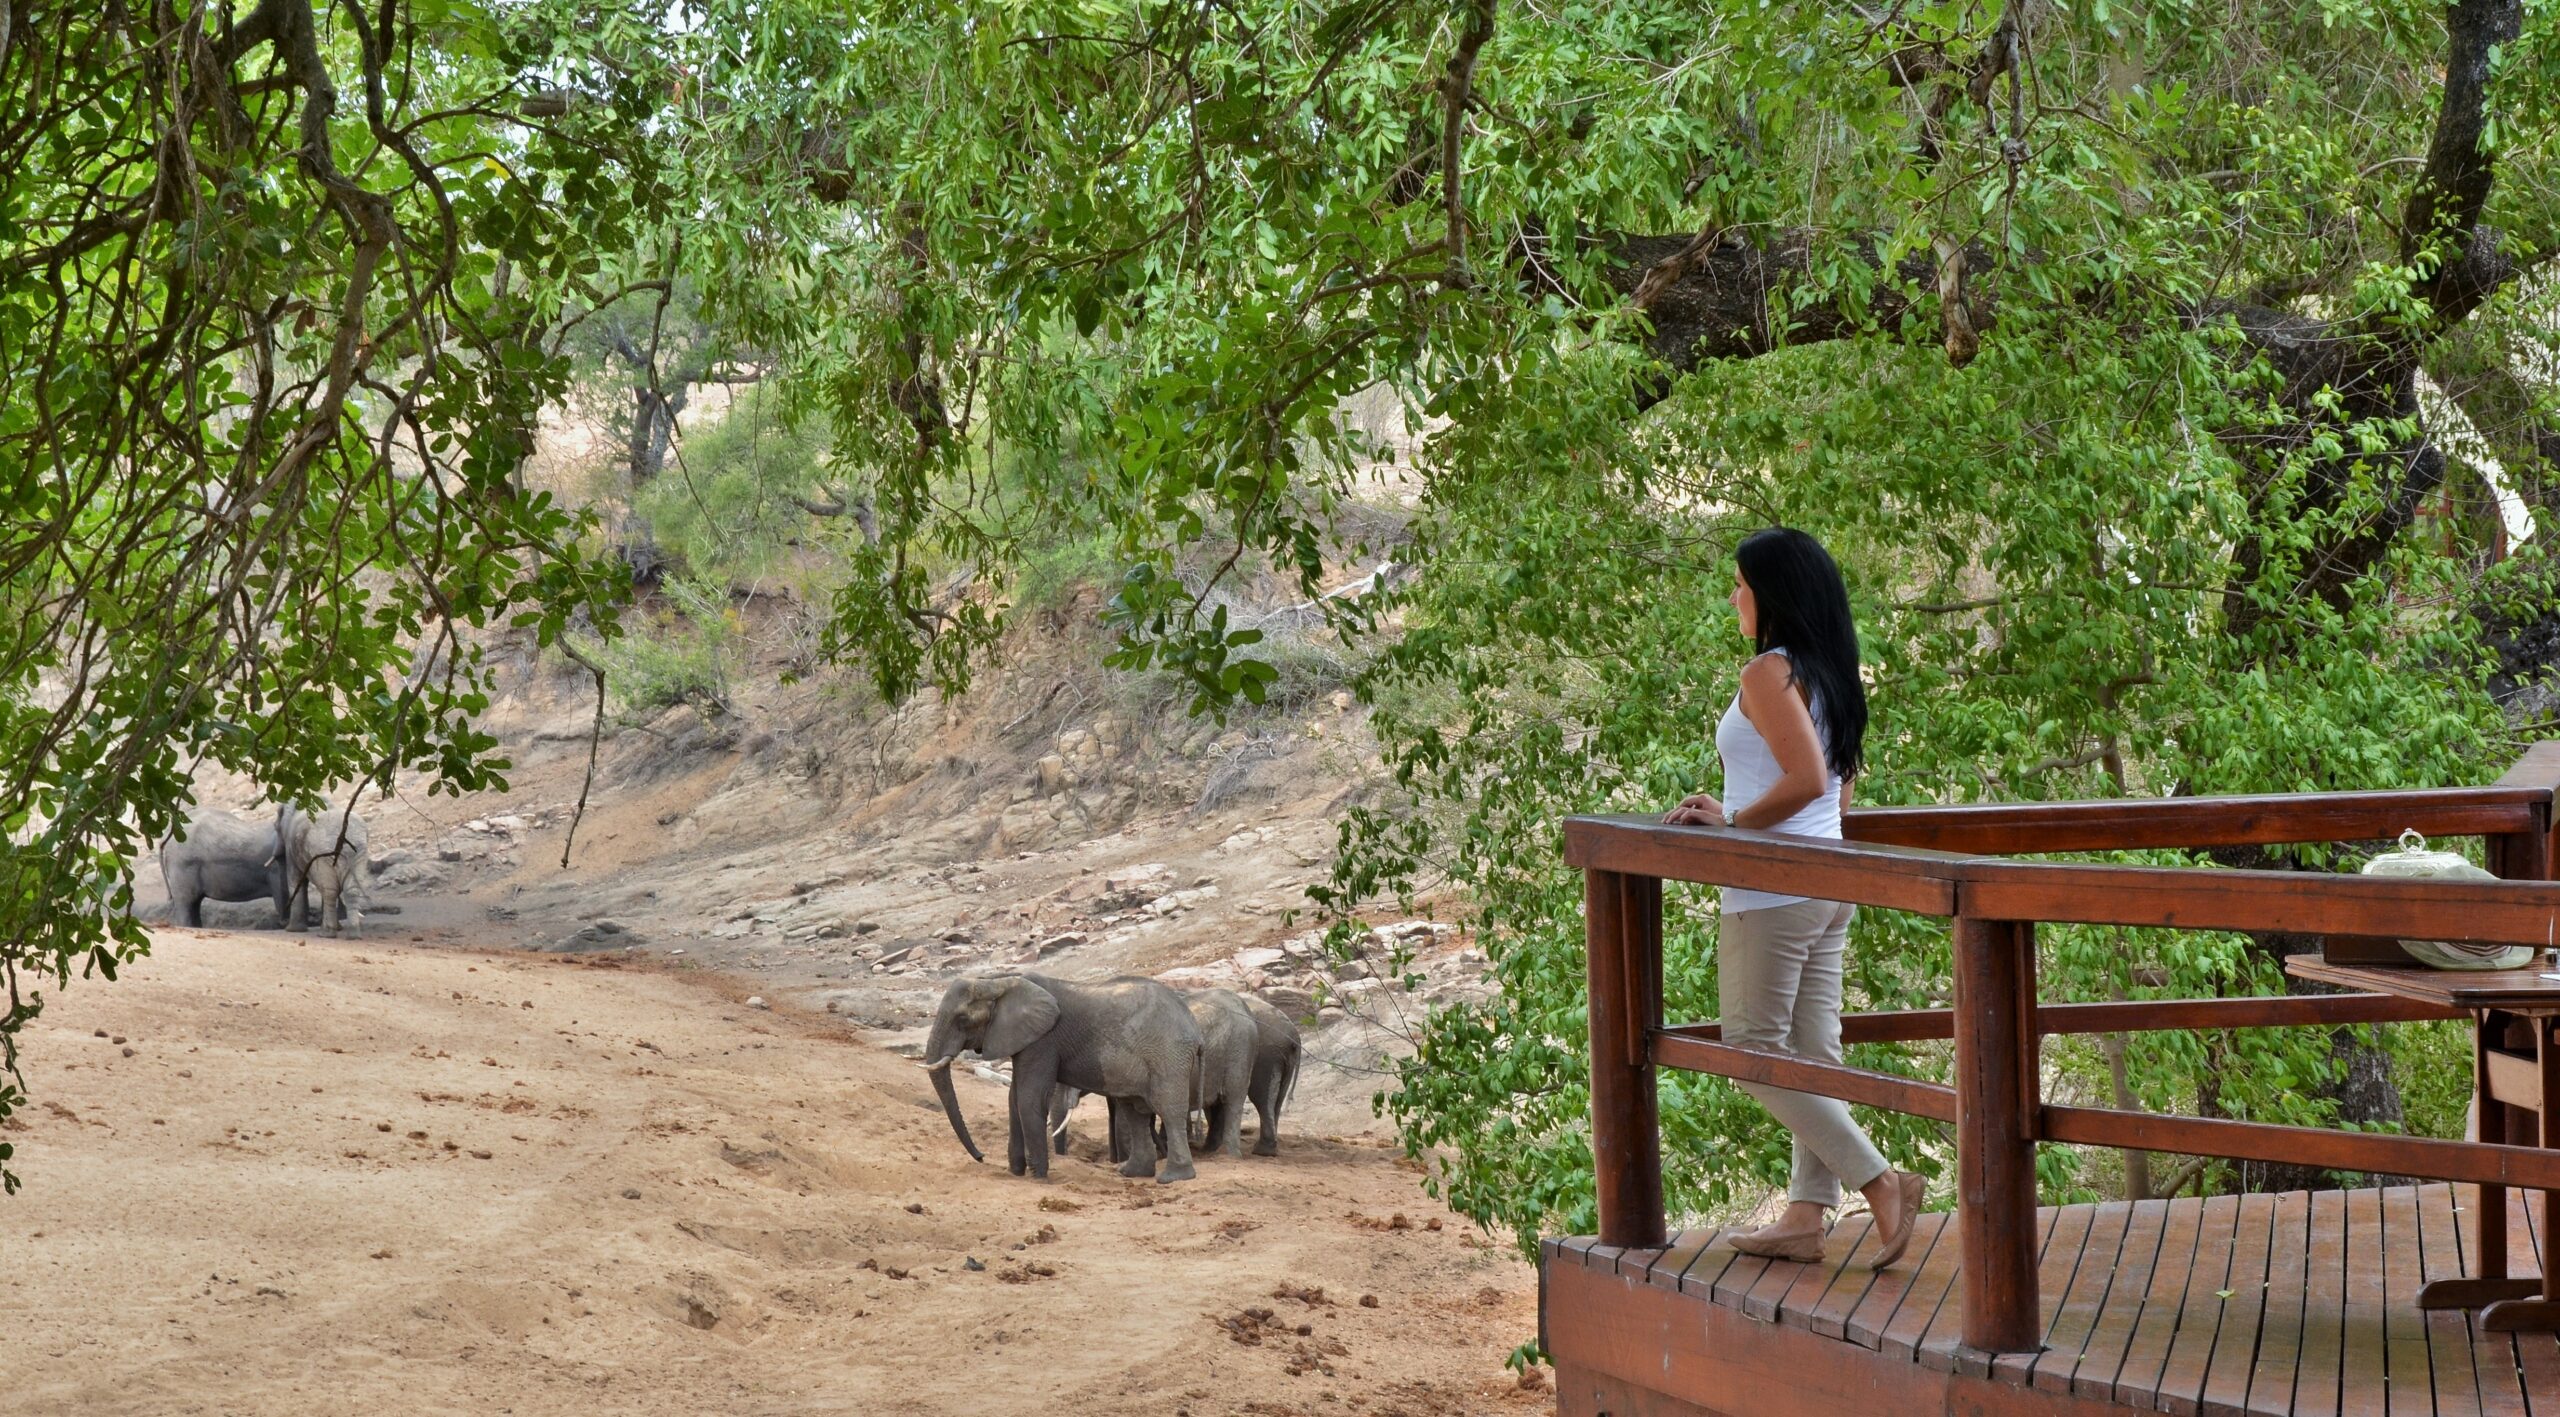
[[[1754,532],[1733,552],[1733,611],[1751,639],[1741,693],[1715,724],[1731,811],[1708,793],[1682,801],[1674,826],[1743,826],[1787,836],[1841,836],[1848,780],[1866,739],[1859,627],[1848,586],[1823,542],[1789,527]],[[1743,1049],[1841,1061],[1841,951],[1853,905],[1723,888],[1718,1003],[1725,1041]],[[1836,1097],[1743,1082],[1743,1092],[1795,1133],[1795,1182],[1774,1225],[1736,1235],[1751,1256],[1820,1261],[1823,1215],[1841,1184],[1866,1197],[1882,1248],[1902,1258],[1920,1212],[1923,1177],[1894,1171]]]

